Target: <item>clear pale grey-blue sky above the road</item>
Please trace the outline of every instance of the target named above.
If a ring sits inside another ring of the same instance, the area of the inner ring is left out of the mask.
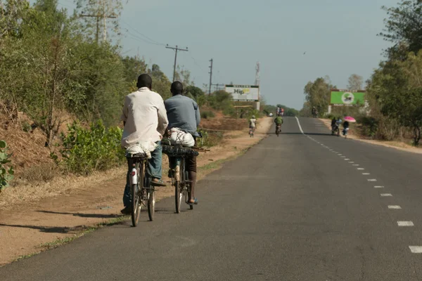
[[[345,89],[350,74],[371,77],[390,46],[377,36],[386,16],[381,6],[398,0],[123,1],[124,55],[139,52],[172,79],[174,51],[165,44],[188,47],[177,63],[200,88],[209,84],[211,58],[213,84],[255,84],[259,61],[267,103],[299,110],[308,81],[328,75]],[[65,8],[72,2],[59,0]]]

